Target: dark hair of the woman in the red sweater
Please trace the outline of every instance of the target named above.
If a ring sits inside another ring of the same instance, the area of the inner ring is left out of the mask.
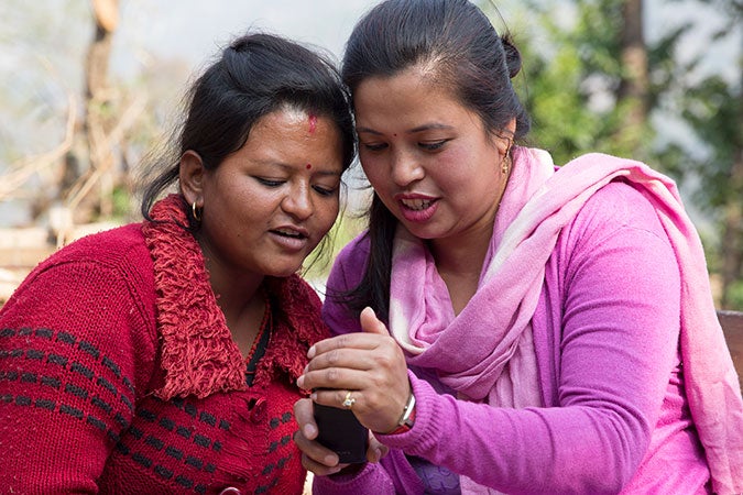
[[[153,161],[154,166],[168,168],[144,188],[141,211],[150,221],[152,205],[178,179],[183,153],[195,151],[205,168],[215,169],[245,144],[255,122],[284,106],[336,122],[343,172],[356,156],[350,97],[334,64],[319,52],[281,36],[252,33],[236,38],[196,79],[186,99],[185,121],[175,131],[179,136]],[[193,229],[197,222],[189,208],[186,212]]]

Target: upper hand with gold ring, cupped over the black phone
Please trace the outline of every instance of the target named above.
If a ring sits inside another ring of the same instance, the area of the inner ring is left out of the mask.
[[[411,394],[405,356],[371,308],[360,316],[362,332],[317,342],[309,349],[309,364],[297,381],[314,391],[318,404],[338,407],[347,399],[359,421],[386,433],[397,427]]]

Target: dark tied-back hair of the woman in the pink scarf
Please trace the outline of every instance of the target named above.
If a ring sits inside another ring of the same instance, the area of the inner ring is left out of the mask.
[[[488,132],[500,135],[516,119],[514,140],[524,138],[529,118],[511,84],[521,54],[509,35],[499,35],[485,14],[467,0],[387,0],[356,25],[341,67],[351,95],[369,77],[394,76],[415,65],[434,69],[437,84],[476,112]],[[371,306],[386,317],[390,305],[392,240],[397,220],[373,195],[369,209],[371,248],[364,276],[354,289],[331,297],[349,309]]]

